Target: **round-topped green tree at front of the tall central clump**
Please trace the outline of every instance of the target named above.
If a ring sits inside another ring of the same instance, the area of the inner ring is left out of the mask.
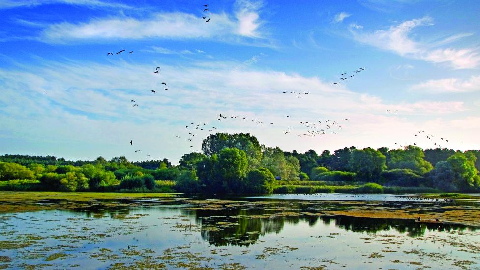
[[[241,193],[244,187],[243,180],[248,173],[245,152],[237,148],[224,148],[218,153],[214,171],[226,193]]]

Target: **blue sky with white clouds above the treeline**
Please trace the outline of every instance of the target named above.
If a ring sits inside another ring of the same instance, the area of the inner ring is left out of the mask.
[[[461,0],[1,0],[0,154],[176,164],[214,132],[299,152],[480,149],[478,14]]]

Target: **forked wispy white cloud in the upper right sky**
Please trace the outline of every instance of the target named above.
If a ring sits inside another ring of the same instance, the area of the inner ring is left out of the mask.
[[[370,33],[358,31],[358,27],[350,25],[350,32],[361,43],[392,51],[401,56],[433,63],[449,63],[455,69],[475,68],[479,65],[480,56],[474,49],[436,48],[470,36],[469,33],[457,34],[432,43],[421,43],[410,38],[414,28],[430,25],[433,25],[432,18],[425,16],[390,26],[388,30],[376,30]]]

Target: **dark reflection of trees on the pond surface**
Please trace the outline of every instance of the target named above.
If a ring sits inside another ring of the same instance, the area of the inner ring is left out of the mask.
[[[263,214],[271,214],[271,210],[197,210],[197,218],[211,216],[255,216]],[[279,216],[269,218],[223,218],[215,217],[212,219],[201,219],[202,238],[215,246],[238,245],[249,246],[254,244],[261,235],[269,233],[280,233],[285,223],[298,224],[300,221],[307,222],[310,226],[314,226],[319,220],[326,225],[332,221],[335,226],[346,231],[352,232],[368,232],[377,233],[380,231],[395,230],[399,233],[406,233],[410,237],[423,236],[427,230],[430,231],[452,231],[465,229],[475,229],[464,225],[441,224],[441,223],[420,223],[414,220],[404,219],[385,219],[385,218],[365,218],[365,217],[349,217],[349,216]],[[217,222],[231,222],[235,225],[221,227]],[[218,226],[219,231],[204,230],[210,226]],[[258,232],[257,234],[247,234],[247,232]]]

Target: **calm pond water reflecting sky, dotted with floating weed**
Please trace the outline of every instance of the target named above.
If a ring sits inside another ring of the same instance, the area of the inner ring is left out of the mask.
[[[308,204],[268,198],[0,214],[0,269],[480,269],[474,227],[299,214]]]

